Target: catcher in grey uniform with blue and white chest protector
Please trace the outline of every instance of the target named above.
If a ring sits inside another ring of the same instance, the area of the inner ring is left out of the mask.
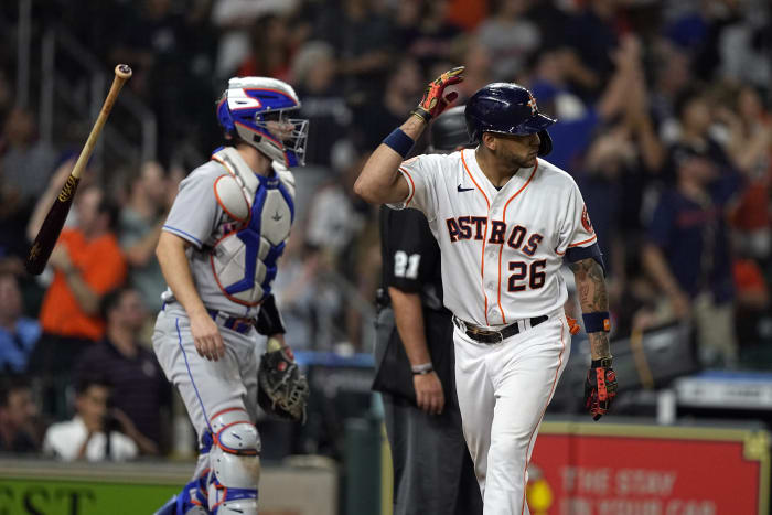
[[[303,164],[308,120],[288,117],[299,107],[281,81],[232,78],[216,108],[227,144],[180,183],[163,225],[156,254],[169,288],[153,348],[200,455],[193,480],[159,514],[257,513],[257,333],[282,347],[271,282],[294,216],[288,168]]]

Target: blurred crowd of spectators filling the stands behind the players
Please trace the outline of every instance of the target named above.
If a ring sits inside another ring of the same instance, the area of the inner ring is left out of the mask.
[[[487,83],[517,82],[558,119],[547,159],[585,196],[615,336],[691,320],[703,366],[772,363],[768,1],[76,3],[34,2],[34,29],[64,26],[106,69],[132,66],[126,87],[157,116],[158,159],[89,169],[49,269],[25,275],[73,147],[71,135],[42,140],[36,106],[14,103],[18,6],[4,2],[0,451],[96,460],[169,450],[157,419],[171,394],[149,350],[165,288],[153,250],[179,181],[222,142],[214,103],[239,74],[288,81],[311,120],[274,289],[296,350],[369,351],[377,211],[352,185],[426,83],[463,64],[459,104]],[[63,449],[63,438],[83,443]]]

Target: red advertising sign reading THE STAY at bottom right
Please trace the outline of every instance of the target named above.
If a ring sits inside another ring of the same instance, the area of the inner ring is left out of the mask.
[[[766,515],[765,432],[545,423],[532,515]]]

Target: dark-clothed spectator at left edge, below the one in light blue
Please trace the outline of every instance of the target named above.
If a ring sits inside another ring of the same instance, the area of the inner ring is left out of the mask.
[[[0,386],[0,453],[40,451],[37,407],[22,376],[6,376]]]

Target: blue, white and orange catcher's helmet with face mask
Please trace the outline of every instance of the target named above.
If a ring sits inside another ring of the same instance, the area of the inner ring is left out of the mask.
[[[217,103],[217,120],[225,131],[287,167],[305,164],[309,121],[289,118],[300,99],[289,84],[269,77],[234,77]],[[279,122],[286,130],[277,130]],[[269,127],[274,128],[271,130]]]

